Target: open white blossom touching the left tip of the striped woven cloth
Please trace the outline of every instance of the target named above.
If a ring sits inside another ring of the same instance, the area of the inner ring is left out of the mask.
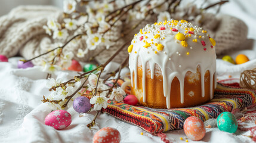
[[[102,96],[94,96],[91,98],[90,103],[94,104],[94,110],[101,110],[101,108],[107,108],[107,100],[109,100],[106,97],[102,97]]]

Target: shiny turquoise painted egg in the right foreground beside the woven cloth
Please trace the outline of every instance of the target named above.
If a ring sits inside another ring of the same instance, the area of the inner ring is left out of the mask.
[[[218,129],[229,133],[235,133],[238,129],[238,121],[230,112],[223,112],[217,118]]]

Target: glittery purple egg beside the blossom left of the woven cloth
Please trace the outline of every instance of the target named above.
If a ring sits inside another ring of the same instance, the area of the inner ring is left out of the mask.
[[[86,113],[91,108],[90,100],[87,97],[78,97],[73,101],[73,108],[78,113]]]

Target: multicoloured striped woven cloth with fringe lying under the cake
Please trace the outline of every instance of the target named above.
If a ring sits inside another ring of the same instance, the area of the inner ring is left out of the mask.
[[[109,101],[103,113],[137,125],[150,133],[168,132],[183,129],[183,123],[189,116],[203,121],[217,118],[224,111],[248,107],[256,102],[256,91],[239,88],[238,84],[217,83],[214,99],[206,104],[191,108],[156,109],[132,106],[117,101]]]

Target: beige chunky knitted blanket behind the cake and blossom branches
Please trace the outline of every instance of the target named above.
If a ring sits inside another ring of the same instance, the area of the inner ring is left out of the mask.
[[[0,17],[0,54],[6,55],[7,57],[20,54],[22,57],[29,59],[47,52],[48,49],[57,47],[55,42],[58,41],[48,36],[42,28],[47,24],[48,18],[55,18],[61,21],[62,11],[50,6],[20,6],[14,8],[9,14]],[[155,18],[156,16],[152,15],[149,21],[141,23],[130,35],[116,42],[115,45],[98,55],[95,60],[98,63],[104,63],[116,49],[125,42],[131,41],[133,35],[139,31],[138,29],[141,29],[148,23],[153,23]],[[207,16],[202,15],[198,21],[200,21],[198,24],[208,29],[211,37],[217,42],[217,55],[233,49],[243,48],[241,45],[246,40],[248,33],[248,27],[243,21],[230,15],[221,15],[217,18],[213,14]],[[116,35],[121,36],[121,32],[132,26],[131,23],[120,24],[120,27],[118,27],[119,30],[116,30]],[[102,49],[97,48],[95,49],[96,51],[88,52],[85,58],[78,58],[76,57],[78,49],[86,48],[84,39],[80,39],[76,46],[69,44],[67,47],[66,50],[73,51],[75,59],[79,61],[88,61],[92,55]],[[126,56],[127,48],[124,48],[124,51],[114,61],[121,63]],[[47,58],[47,55],[41,58]],[[39,63],[41,58],[34,60],[33,63],[37,65],[41,64]]]

